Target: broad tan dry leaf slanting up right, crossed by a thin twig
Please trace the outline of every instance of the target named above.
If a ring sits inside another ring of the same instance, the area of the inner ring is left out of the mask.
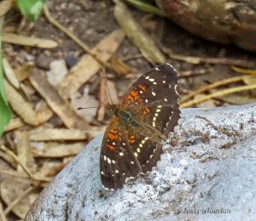
[[[99,42],[92,51],[97,54],[98,58],[108,61],[111,55],[119,48],[124,38],[125,35],[123,31],[115,30],[107,37],[104,37],[102,42]],[[60,82],[58,85],[59,93],[65,99],[71,97],[84,82],[87,82],[99,69],[100,65],[98,61],[88,54],[85,55]]]

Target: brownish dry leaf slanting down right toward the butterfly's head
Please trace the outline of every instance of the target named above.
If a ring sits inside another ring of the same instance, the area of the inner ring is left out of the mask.
[[[68,128],[86,129],[88,123],[84,119],[76,114],[72,106],[63,99],[56,89],[48,82],[44,73],[37,69],[32,71],[29,77],[32,86],[36,88],[39,94],[46,100],[50,108],[60,116],[62,122]]]

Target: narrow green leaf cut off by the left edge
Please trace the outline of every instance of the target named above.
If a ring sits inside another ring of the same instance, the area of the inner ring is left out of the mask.
[[[0,17],[0,33],[3,26],[3,17]],[[0,35],[0,137],[3,134],[3,128],[9,123],[11,118],[11,110],[8,105],[8,100],[4,87],[3,77],[3,59],[2,59],[2,39]]]

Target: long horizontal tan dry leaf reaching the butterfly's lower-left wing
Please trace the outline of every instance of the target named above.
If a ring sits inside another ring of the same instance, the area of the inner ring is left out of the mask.
[[[49,141],[49,140],[85,140],[90,133],[96,137],[102,133],[102,130],[78,130],[78,129],[55,129],[55,128],[37,128],[31,130],[29,139],[32,141]]]

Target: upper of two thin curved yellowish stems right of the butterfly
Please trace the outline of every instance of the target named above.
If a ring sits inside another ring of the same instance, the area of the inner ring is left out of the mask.
[[[183,104],[186,100],[194,97],[196,94],[201,94],[205,91],[208,91],[212,88],[217,88],[219,86],[224,86],[226,84],[229,84],[229,83],[234,83],[234,82],[241,82],[241,80],[245,79],[245,78],[249,78],[249,77],[244,77],[244,76],[241,76],[241,77],[230,77],[228,79],[225,79],[225,80],[221,80],[221,81],[218,81],[218,82],[213,82],[211,84],[208,84],[206,87],[203,87],[203,88],[200,88],[186,96],[184,96],[182,99],[180,99],[180,104]]]

